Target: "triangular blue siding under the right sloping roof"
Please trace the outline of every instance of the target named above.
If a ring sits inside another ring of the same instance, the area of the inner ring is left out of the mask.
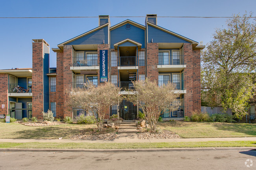
[[[177,36],[148,25],[148,42],[151,42],[152,38],[153,43],[189,43]]]

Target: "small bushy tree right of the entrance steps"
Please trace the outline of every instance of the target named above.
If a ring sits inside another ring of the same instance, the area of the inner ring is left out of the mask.
[[[165,111],[174,111],[180,103],[174,102],[179,94],[175,94],[173,83],[158,86],[157,81],[134,81],[134,95],[129,95],[128,100],[143,110],[145,119],[148,120],[151,131],[155,131],[158,118]]]

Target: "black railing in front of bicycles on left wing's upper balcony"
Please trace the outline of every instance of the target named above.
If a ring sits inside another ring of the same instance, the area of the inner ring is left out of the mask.
[[[15,83],[9,84],[9,93],[31,93],[32,84],[30,83]]]

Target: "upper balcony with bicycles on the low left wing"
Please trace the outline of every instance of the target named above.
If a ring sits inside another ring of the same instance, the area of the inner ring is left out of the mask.
[[[32,97],[32,84],[30,83],[8,84],[8,87],[8,96]]]

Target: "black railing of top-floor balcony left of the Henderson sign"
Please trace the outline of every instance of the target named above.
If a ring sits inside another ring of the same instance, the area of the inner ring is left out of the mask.
[[[86,58],[86,59],[85,59]],[[97,66],[98,57],[73,57],[74,67],[88,67],[88,66]]]

